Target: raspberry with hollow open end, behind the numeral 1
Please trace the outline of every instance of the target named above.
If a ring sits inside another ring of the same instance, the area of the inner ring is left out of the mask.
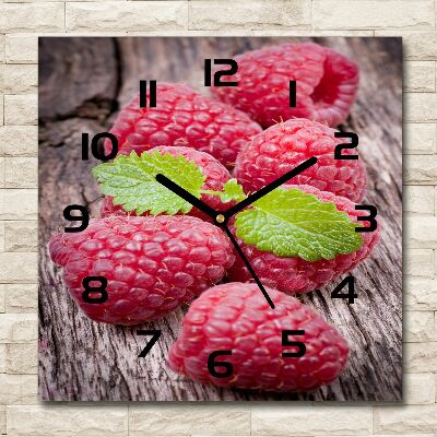
[[[343,55],[314,43],[283,44],[234,57],[238,72],[222,78],[238,86],[215,87],[223,102],[263,127],[292,117],[343,122],[355,99],[358,67]],[[296,81],[296,107],[290,107],[290,81]]]

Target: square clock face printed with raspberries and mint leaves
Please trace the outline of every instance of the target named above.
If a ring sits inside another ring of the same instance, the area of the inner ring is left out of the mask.
[[[401,400],[401,38],[40,38],[42,399]]]

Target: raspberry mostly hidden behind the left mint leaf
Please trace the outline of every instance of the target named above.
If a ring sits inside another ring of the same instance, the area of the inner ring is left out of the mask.
[[[217,160],[208,153],[199,152],[194,149],[182,146],[160,146],[151,149],[147,152],[160,152],[162,155],[170,154],[173,156],[185,156],[188,161],[194,162],[206,176],[205,182],[202,187],[204,190],[223,191],[224,184],[231,179],[229,172]],[[212,206],[215,211],[225,211],[234,203],[223,203],[218,197],[208,194],[202,194],[201,200]],[[105,200],[102,204],[101,214],[103,217],[106,217],[109,215],[127,215],[128,213],[122,209],[122,206],[115,205],[110,197],[105,197]],[[129,215],[135,214],[134,212],[131,212]],[[145,212],[142,215],[149,215],[149,212]],[[197,208],[193,208],[190,211],[190,215],[210,221],[210,218]]]

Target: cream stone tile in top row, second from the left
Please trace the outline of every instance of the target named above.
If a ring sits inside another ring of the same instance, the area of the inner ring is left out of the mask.
[[[67,2],[66,17],[75,32],[179,31],[188,27],[188,2]]]

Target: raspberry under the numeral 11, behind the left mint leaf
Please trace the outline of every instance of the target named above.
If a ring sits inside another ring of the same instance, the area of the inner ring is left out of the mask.
[[[233,166],[240,147],[261,131],[245,113],[187,85],[158,83],[156,95],[155,108],[140,108],[137,94],[120,110],[110,130],[118,139],[119,153],[140,154],[157,145],[182,145],[208,152]]]

